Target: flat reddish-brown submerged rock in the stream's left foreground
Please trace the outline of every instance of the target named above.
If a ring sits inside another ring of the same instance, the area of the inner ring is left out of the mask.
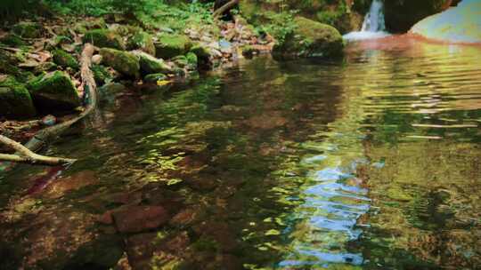
[[[161,206],[130,206],[112,214],[120,233],[139,233],[167,223],[169,215]]]

